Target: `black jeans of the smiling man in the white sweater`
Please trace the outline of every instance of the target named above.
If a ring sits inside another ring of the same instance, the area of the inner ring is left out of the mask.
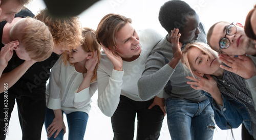
[[[111,117],[113,139],[133,139],[136,114],[138,119],[137,139],[158,139],[164,114],[157,105],[148,109],[153,101],[154,99],[139,102],[121,95],[118,107]]]

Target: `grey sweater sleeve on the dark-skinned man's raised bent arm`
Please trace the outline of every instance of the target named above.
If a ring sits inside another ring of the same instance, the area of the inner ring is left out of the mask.
[[[139,97],[146,101],[158,95],[172,76],[174,69],[165,63],[159,52],[152,53],[146,62],[145,70],[138,80]]]

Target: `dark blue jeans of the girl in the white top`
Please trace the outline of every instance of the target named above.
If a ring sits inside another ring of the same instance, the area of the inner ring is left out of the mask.
[[[62,114],[63,114],[63,111],[62,111]],[[70,114],[66,114],[66,116],[67,116],[67,122],[69,127],[69,139],[83,140],[84,133],[86,132],[88,114],[81,111],[76,111]],[[46,117],[45,117],[46,129],[52,123],[53,119],[54,119],[53,110],[46,107]],[[52,139],[52,140],[63,139],[63,136],[64,136],[63,129],[59,132],[56,138],[54,138],[55,133],[56,132],[54,132],[54,134],[48,139]]]

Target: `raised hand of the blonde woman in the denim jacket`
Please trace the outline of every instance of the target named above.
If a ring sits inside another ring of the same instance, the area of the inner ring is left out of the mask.
[[[216,103],[223,105],[222,96],[220,93],[220,90],[217,86],[217,82],[212,78],[210,75],[205,74],[205,76],[208,78],[201,77],[200,75],[194,73],[199,79],[187,76],[186,78],[193,80],[193,81],[187,81],[187,83],[190,85],[191,88],[195,90],[203,90],[205,92],[208,92],[212,98],[216,101]]]

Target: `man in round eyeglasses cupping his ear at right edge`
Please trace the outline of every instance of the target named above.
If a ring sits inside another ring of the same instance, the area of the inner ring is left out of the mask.
[[[243,26],[240,23],[217,22],[208,30],[207,41],[212,49],[220,53],[219,59],[228,66],[222,65],[221,68],[245,78],[255,104],[256,48],[255,42],[245,35]],[[235,57],[235,55],[238,56]],[[233,94],[236,95],[236,93]],[[255,128],[255,126],[252,127]],[[242,139],[253,139],[253,137],[247,137],[243,128],[244,125],[242,126]]]

